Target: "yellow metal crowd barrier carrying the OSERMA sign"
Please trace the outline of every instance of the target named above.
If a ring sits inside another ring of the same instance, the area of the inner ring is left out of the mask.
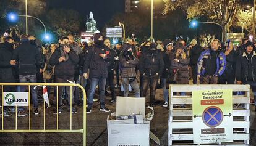
[[[86,145],[86,94],[85,89],[80,84],[73,83],[0,83],[2,86],[2,129],[1,133],[16,133],[16,132],[46,132],[46,133],[82,133],[83,134],[83,145]],[[28,129],[17,129],[17,106],[15,106],[15,129],[4,129],[4,86],[28,86]],[[56,86],[56,105],[57,105],[57,128],[46,129],[45,128],[45,99],[43,102],[43,129],[31,129],[31,109],[30,109],[30,86]],[[59,129],[59,86],[70,86],[70,129]],[[72,129],[72,86],[79,87],[83,92],[83,129]]]

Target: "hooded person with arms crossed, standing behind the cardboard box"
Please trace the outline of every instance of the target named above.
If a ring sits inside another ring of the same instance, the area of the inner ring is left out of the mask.
[[[134,89],[135,97],[140,97],[140,88],[137,81],[137,73],[135,71],[136,65],[139,64],[139,60],[134,56],[132,52],[132,45],[124,43],[119,55],[120,61],[120,73],[121,81],[124,86],[124,97],[128,97],[129,84]]]

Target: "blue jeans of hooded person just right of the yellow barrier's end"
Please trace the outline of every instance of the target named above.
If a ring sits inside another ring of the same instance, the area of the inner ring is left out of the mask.
[[[106,78],[90,78],[91,86],[88,98],[88,108],[92,108],[93,96],[95,94],[96,86],[99,87],[100,92],[100,107],[105,108],[105,86]]]

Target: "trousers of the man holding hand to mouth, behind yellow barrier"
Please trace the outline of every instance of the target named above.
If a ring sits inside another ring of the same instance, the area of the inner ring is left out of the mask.
[[[56,78],[56,83],[69,83],[67,82],[67,80],[69,81],[74,81],[74,78],[70,78],[70,79],[62,79],[62,78]],[[70,105],[70,87],[69,86],[59,86],[58,87],[58,105],[59,107],[61,107],[62,105],[62,91],[66,89],[67,92],[67,101],[69,102],[68,105]],[[72,91],[74,91],[74,86],[72,86]],[[56,97],[57,98],[57,97]],[[57,99],[56,99],[57,102]],[[74,105],[74,96],[72,96],[72,105]],[[57,103],[56,103],[57,105]]]

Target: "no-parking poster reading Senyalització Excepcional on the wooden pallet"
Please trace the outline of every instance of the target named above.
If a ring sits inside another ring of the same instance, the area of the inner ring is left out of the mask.
[[[233,141],[232,90],[192,92],[194,144]]]

